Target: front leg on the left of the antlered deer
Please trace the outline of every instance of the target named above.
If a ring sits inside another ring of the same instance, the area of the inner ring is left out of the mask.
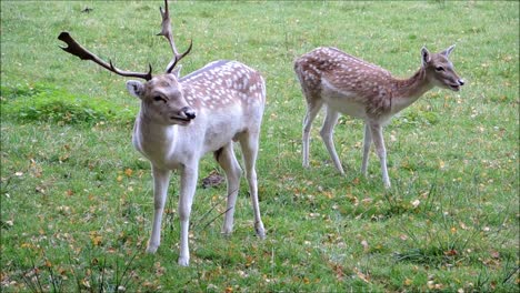
[[[168,196],[168,183],[170,182],[170,171],[160,170],[152,166],[153,175],[153,225],[150,240],[148,241],[147,252],[156,253],[161,244],[161,222],[164,202]]]

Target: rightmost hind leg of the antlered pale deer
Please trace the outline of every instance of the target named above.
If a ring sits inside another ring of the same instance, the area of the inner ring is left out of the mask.
[[[240,146],[242,149],[243,163],[246,165],[246,176],[249,183],[249,193],[251,195],[251,204],[254,214],[254,230],[260,239],[266,238],[266,229],[263,228],[260,218],[260,204],[258,202],[258,183],[257,183],[257,155],[260,132],[247,131],[240,137]]]

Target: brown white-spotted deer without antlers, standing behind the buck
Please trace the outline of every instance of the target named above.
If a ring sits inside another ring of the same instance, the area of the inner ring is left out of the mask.
[[[303,120],[303,166],[309,166],[311,124],[324,104],[327,113],[320,134],[330,156],[344,174],[332,140],[340,113],[364,120],[363,160],[361,172],[367,175],[372,141],[381,163],[382,180],[390,188],[387,170],[387,150],[382,128],[399,111],[411,105],[433,87],[459,91],[464,81],[459,78],[448,60],[454,46],[440,53],[421,50],[421,68],[409,79],[393,78],[390,72],[336,48],[318,48],[294,62],[307,100]]]

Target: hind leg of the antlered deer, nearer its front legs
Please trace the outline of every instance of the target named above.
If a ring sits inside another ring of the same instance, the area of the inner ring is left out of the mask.
[[[222,226],[222,234],[230,235],[233,231],[233,214],[234,205],[237,203],[237,195],[240,186],[240,176],[242,175],[242,169],[237,161],[237,156],[233,151],[233,143],[229,142],[222,149],[214,153],[217,162],[226,172],[226,179],[228,181],[228,203],[224,215],[224,223]]]

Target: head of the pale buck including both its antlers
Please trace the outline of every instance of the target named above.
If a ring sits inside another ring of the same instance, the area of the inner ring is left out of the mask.
[[[163,36],[168,40],[173,52],[173,58],[168,64],[166,73],[157,77],[152,77],[151,65],[149,65],[149,71],[147,73],[124,71],[116,68],[112,61],[106,62],[79,44],[69,32],[61,32],[58,39],[68,44],[68,47],[60,46],[63,51],[77,55],[81,60],[93,61],[102,68],[122,77],[144,79],[146,82],[137,80],[128,81],[127,89],[130,94],[142,101],[141,112],[146,118],[152,119],[161,124],[187,125],[196,118],[196,112],[184,99],[182,88],[179,83],[181,67],[179,65],[176,69],[176,65],[191,51],[193,42],[190,41],[188,50],[183,53],[179,53],[171,30],[168,0],[164,0],[164,10],[162,10],[162,8],[159,8],[159,10],[162,17],[162,24],[161,32],[157,36]]]

